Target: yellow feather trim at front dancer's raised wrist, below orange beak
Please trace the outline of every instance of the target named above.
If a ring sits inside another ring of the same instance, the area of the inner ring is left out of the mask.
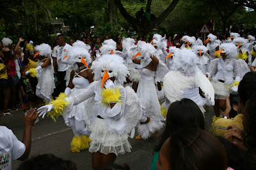
[[[119,91],[119,88],[115,88],[115,89],[104,89],[102,90],[101,92],[101,96],[102,96],[102,100],[101,102],[104,104],[104,105],[108,105],[110,103],[120,103],[120,97],[121,97],[121,94],[120,94],[120,91]]]

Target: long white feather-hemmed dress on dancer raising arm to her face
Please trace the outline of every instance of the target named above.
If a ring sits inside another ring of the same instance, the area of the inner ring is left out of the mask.
[[[138,134],[140,134],[143,139],[149,138],[164,125],[163,122],[161,122],[164,118],[161,116],[161,106],[157,97],[155,73],[155,71],[150,71],[146,68],[141,69],[141,78],[137,90],[141,107],[145,115],[150,118],[148,124],[138,125]]]

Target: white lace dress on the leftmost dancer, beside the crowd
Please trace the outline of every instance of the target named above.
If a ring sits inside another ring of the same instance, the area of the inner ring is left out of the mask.
[[[46,59],[44,59],[46,60]],[[41,66],[44,64],[44,60],[38,60],[37,66]],[[36,85],[37,89],[40,89],[40,93],[49,99],[51,101],[52,93],[55,88],[54,83],[54,70],[52,66],[52,59],[51,59],[51,65],[44,67],[40,69],[37,73],[38,83]]]

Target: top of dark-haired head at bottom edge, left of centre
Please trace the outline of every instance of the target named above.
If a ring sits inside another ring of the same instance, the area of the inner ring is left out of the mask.
[[[76,170],[76,164],[71,160],[63,160],[52,154],[37,155],[20,164],[17,170]]]

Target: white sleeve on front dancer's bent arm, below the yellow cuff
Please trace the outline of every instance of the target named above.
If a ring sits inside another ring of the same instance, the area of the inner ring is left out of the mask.
[[[116,103],[113,108],[108,108],[108,117],[114,117],[115,120],[119,120],[124,114],[126,93],[124,87],[120,88],[120,103]]]

